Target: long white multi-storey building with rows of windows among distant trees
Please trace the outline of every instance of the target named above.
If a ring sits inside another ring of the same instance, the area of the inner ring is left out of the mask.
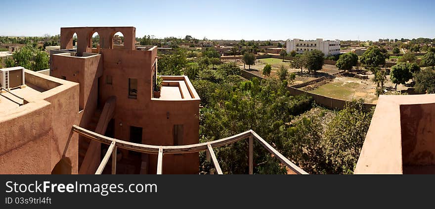
[[[340,40],[323,41],[323,39],[304,41],[300,39],[287,40],[287,53],[291,51],[304,53],[312,50],[319,50],[327,55],[340,54]]]

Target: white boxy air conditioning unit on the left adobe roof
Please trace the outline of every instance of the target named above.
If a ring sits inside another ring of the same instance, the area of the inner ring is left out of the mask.
[[[0,86],[5,89],[24,86],[24,67],[0,69]]]

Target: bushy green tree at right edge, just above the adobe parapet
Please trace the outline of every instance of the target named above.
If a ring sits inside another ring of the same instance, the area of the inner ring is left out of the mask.
[[[415,91],[420,94],[435,93],[435,71],[432,69],[422,69],[414,75]]]

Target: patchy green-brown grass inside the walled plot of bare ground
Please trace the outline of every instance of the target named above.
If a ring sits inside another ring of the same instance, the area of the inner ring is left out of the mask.
[[[331,82],[320,86],[319,88],[310,91],[311,93],[332,97],[336,99],[348,100],[353,95],[353,88],[357,83]]]

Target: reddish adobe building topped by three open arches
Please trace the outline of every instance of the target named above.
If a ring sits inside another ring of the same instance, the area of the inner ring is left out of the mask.
[[[80,84],[80,127],[138,144],[198,143],[198,94],[187,76],[162,76],[161,96],[154,98],[157,47],[136,50],[135,31],[134,27],[61,28],[61,50],[51,52],[50,75]],[[95,32],[100,37],[98,53],[91,48]],[[124,44],[114,47],[117,32],[124,35]],[[74,33],[77,50],[72,50]],[[95,173],[107,147],[80,137],[79,173]],[[156,173],[156,155],[118,152],[117,173]],[[164,164],[166,174],[197,174],[199,155],[167,155]]]

